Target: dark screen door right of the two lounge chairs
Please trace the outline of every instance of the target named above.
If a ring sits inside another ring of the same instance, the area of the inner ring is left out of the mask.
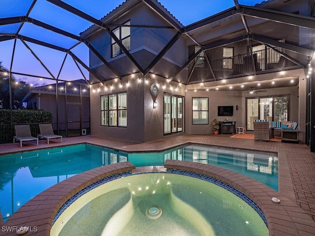
[[[81,103],[66,103],[66,137],[81,135]]]

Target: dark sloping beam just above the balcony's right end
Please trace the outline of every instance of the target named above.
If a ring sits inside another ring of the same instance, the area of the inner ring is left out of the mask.
[[[314,51],[311,50],[311,49],[302,48],[300,46],[295,46],[295,45],[292,45],[292,44],[279,42],[277,40],[270,39],[270,38],[267,38],[267,37],[264,37],[264,36],[260,36],[260,35],[257,35],[257,34],[252,36],[252,40],[260,42],[261,44],[266,43],[266,44],[270,44],[270,45],[275,46],[275,47],[284,48],[284,49],[289,50],[291,52],[303,54],[303,55],[306,55],[306,56],[309,56],[309,57],[312,57],[313,53],[314,53]]]

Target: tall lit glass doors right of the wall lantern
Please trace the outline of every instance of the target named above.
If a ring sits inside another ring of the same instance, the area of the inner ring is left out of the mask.
[[[164,134],[183,132],[184,97],[164,95]]]

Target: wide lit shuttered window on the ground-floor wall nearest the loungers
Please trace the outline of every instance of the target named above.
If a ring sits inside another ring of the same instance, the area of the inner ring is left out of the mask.
[[[101,96],[101,125],[127,126],[127,93]]]

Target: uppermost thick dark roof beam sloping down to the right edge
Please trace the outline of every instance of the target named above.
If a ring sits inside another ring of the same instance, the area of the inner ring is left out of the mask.
[[[284,23],[291,26],[315,29],[315,18],[309,16],[245,5],[240,5],[240,9],[233,13]]]

